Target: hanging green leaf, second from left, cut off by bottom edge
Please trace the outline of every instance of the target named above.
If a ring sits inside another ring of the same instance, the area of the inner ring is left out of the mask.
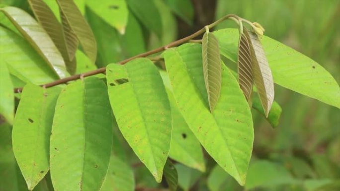
[[[99,191],[112,145],[109,104],[105,84],[98,78],[70,83],[61,92],[50,138],[55,190]]]

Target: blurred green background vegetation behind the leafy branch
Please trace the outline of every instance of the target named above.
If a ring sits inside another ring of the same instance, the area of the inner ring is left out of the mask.
[[[146,26],[150,24],[138,20],[135,18],[138,15],[130,13],[128,23],[134,24],[128,24],[122,35],[119,27],[112,27],[96,15],[94,10],[84,8],[85,17],[98,45],[96,65],[106,66],[165,45],[192,34],[223,15],[235,13],[261,23],[266,29],[266,36],[312,58],[330,71],[340,83],[339,0],[192,0],[180,6],[171,4],[172,0],[162,2],[165,3],[158,3],[158,8],[162,12],[174,14],[164,14],[168,15],[162,17],[161,25],[164,30],[155,30],[152,33],[146,32]],[[20,7],[33,15],[25,0],[0,0],[1,3]],[[140,6],[143,6],[143,3]],[[225,22],[216,29],[224,27],[235,27],[235,23]],[[162,34],[161,39],[157,38],[157,33]],[[227,59],[224,61],[228,62]],[[84,68],[78,68],[77,72],[90,69],[93,68],[87,68],[85,65]],[[339,191],[340,110],[278,85],[275,85],[275,101],[282,107],[278,127],[272,128],[262,116],[253,112],[255,144],[245,188],[240,187],[234,179],[215,166],[213,159],[206,155],[205,173],[175,164],[180,189]],[[0,128],[0,133],[8,133],[3,129],[5,128]],[[128,150],[127,160],[132,164],[135,173],[136,190],[162,190],[166,183],[156,183],[122,137],[120,140]],[[6,181],[12,181],[12,178],[3,173],[1,168],[4,167],[1,164],[0,191],[8,191],[3,185],[8,184]],[[48,188],[48,182],[49,180],[46,180],[42,184],[47,186],[40,185],[37,190]],[[18,188],[21,188],[17,190],[25,190],[22,180],[18,179],[18,185],[23,186],[19,186]]]

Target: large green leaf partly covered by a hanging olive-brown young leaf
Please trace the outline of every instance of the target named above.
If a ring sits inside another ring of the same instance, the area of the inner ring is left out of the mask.
[[[164,53],[173,95],[185,121],[216,162],[245,184],[254,140],[252,115],[242,90],[222,65],[221,95],[209,111],[201,46],[184,44]]]

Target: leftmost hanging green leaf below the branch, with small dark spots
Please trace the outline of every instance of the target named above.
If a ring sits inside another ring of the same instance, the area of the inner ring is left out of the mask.
[[[14,155],[28,190],[33,190],[49,170],[50,134],[60,91],[28,83],[21,95],[12,138]]]

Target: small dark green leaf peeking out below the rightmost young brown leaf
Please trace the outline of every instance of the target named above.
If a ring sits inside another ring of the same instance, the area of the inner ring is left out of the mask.
[[[263,111],[263,107],[261,105],[261,100],[258,98],[258,96],[253,98],[253,108],[257,110],[264,118],[266,118],[271,127],[277,127],[279,125],[282,109],[277,102],[273,101],[271,109],[268,113],[268,117],[265,116],[265,112]]]

